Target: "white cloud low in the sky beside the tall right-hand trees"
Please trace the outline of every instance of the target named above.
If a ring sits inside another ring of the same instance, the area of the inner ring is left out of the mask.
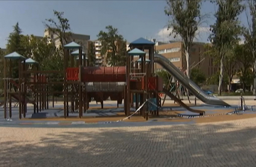
[[[176,36],[176,38],[175,38],[175,34],[169,35],[171,32],[172,32],[172,28],[160,29],[156,34],[157,41],[181,40],[181,37],[179,35]],[[204,27],[204,26],[199,27],[198,31],[196,31],[196,36],[194,38],[194,41],[206,42],[209,35],[210,35],[210,27]]]

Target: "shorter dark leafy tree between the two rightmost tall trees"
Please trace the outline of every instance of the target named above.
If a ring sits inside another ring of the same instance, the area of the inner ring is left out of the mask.
[[[235,53],[240,66],[239,79],[243,84],[243,91],[245,92],[245,87],[254,81],[254,73],[252,71],[254,56],[248,43],[237,44]]]

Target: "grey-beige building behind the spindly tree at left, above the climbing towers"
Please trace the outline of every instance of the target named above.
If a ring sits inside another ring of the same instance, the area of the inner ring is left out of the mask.
[[[53,32],[49,31],[49,29],[45,29],[45,33],[43,35],[44,37],[49,37],[49,42],[54,42],[56,47],[60,47],[60,38],[57,34],[54,34]],[[88,41],[90,40],[90,35],[83,35],[83,34],[74,34],[72,33],[69,37],[69,42],[74,41],[75,43],[78,43],[82,46],[83,52],[88,53]]]

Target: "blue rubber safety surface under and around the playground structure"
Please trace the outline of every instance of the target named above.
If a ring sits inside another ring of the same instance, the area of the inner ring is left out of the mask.
[[[101,105],[90,105],[93,107],[101,108]],[[105,104],[104,107],[113,107],[116,104]],[[110,117],[117,115],[117,112],[122,112],[123,108],[122,105],[119,105],[121,108],[113,108],[113,109],[93,109],[87,111],[86,114],[83,114],[85,117],[88,116],[104,116]],[[56,118],[56,117],[63,117],[64,111],[61,109],[63,105],[55,105],[55,108],[49,108],[48,110],[41,111],[38,114],[34,114],[33,107],[27,108],[27,116],[26,118]],[[180,106],[172,106],[173,111],[183,111],[183,115],[189,116],[199,116],[190,111],[186,111],[186,109]],[[209,105],[202,105],[202,106],[193,106],[193,109],[202,109],[202,110],[210,110],[206,111],[205,115],[215,115],[218,113],[217,110],[230,110],[232,108],[236,108],[236,106],[231,106],[229,108],[219,107],[219,106],[209,106]],[[164,109],[170,109],[170,107],[163,107]],[[132,111],[134,109],[131,109]],[[246,112],[246,114],[256,114],[256,112]],[[78,117],[78,113],[69,114],[69,117]],[[181,122],[172,122],[167,121],[163,122],[161,119],[154,119],[149,120],[146,122],[98,122],[98,123],[86,123],[84,121],[43,121],[43,120],[19,120],[19,108],[12,108],[12,117],[11,121],[4,120],[4,108],[0,108],[0,126],[4,127],[86,127],[86,128],[93,128],[93,127],[135,127],[135,126],[163,126],[163,125],[179,125],[179,124],[195,124],[195,121],[181,121]]]

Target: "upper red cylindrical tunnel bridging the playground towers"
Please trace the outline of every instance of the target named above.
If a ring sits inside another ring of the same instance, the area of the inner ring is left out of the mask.
[[[125,82],[126,67],[84,67],[82,82]]]

